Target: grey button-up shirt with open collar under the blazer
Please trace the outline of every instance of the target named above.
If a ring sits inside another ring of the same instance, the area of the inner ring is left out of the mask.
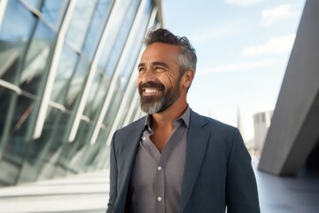
[[[146,117],[128,187],[128,209],[132,213],[179,212],[187,132],[191,109],[174,121],[174,130],[159,153],[150,136],[150,115]]]

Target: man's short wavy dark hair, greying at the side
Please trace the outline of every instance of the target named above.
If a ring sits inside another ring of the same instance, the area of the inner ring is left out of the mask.
[[[173,45],[178,45],[181,47],[178,62],[181,67],[180,73],[183,73],[189,69],[196,71],[197,56],[196,51],[192,47],[191,42],[187,37],[175,36],[170,31],[164,28],[154,29],[151,28],[144,39],[144,44],[146,46],[152,43],[168,43]]]

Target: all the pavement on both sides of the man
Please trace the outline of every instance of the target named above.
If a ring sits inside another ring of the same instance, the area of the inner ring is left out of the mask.
[[[276,177],[255,170],[255,175],[261,213],[319,213],[318,173],[300,170],[297,177]],[[104,213],[108,191],[107,170],[4,187],[0,213]]]

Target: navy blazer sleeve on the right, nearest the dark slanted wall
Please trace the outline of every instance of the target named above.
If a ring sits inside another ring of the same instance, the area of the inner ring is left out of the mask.
[[[228,213],[261,212],[251,156],[237,129],[227,164],[226,204]]]

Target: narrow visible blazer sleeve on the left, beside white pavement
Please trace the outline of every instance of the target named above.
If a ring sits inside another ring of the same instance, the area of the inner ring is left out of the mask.
[[[117,198],[118,170],[117,170],[117,161],[116,161],[115,147],[114,147],[115,134],[116,132],[113,135],[111,150],[110,150],[110,193],[109,193],[109,201],[107,204],[106,213],[113,212],[113,206]]]

